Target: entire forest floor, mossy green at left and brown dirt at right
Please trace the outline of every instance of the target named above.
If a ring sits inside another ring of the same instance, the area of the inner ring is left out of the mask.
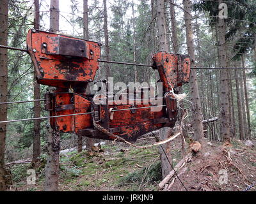
[[[138,144],[148,144],[140,140]],[[152,140],[152,143],[154,140]],[[256,140],[252,142],[256,144]],[[161,166],[159,147],[136,149],[123,143],[108,143],[95,151],[68,152],[60,157],[60,191],[159,191]],[[180,139],[172,141],[172,164],[182,159]],[[31,164],[10,167],[10,191],[43,191],[46,156],[36,168],[36,184],[27,185]],[[256,181],[256,147],[240,140],[230,144],[202,142],[200,152],[178,172],[188,191],[243,191]],[[171,191],[186,191],[173,177]],[[255,191],[252,187],[250,191]]]

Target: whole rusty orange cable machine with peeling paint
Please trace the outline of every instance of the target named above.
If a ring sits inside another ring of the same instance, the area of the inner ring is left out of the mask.
[[[143,92],[149,91],[149,87],[141,87],[132,94],[127,89],[122,94],[127,103],[120,104],[109,97],[113,92],[109,92],[107,81],[104,81],[107,87],[104,94],[85,91],[99,69],[100,43],[31,29],[27,48],[38,84],[56,87],[46,94],[46,110],[51,116],[70,115],[51,118],[51,126],[56,131],[106,140],[115,140],[113,135],[117,135],[135,142],[140,135],[175,125],[177,101],[173,90],[189,82],[188,55],[154,54],[152,68],[159,71],[163,94],[148,95],[148,103],[143,103]],[[106,103],[99,103],[103,98]],[[153,103],[157,100],[163,101],[163,105]]]

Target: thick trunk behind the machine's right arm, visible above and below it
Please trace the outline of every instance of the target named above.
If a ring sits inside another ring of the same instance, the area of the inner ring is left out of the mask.
[[[168,45],[166,42],[166,20],[164,15],[164,0],[157,0],[157,33],[158,33],[158,51],[159,52],[167,52]],[[159,138],[160,140],[165,140],[170,137],[172,133],[171,128],[161,128],[159,130]],[[166,175],[172,170],[172,166],[169,161],[172,161],[172,155],[170,154],[170,142],[165,143],[159,147],[159,153],[161,154],[161,170],[162,177],[166,177]]]

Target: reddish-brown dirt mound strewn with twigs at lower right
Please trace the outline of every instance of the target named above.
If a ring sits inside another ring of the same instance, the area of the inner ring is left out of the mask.
[[[243,191],[256,181],[255,147],[240,140],[231,144],[205,141],[180,174],[188,191]],[[173,180],[171,191],[186,190],[177,177]]]

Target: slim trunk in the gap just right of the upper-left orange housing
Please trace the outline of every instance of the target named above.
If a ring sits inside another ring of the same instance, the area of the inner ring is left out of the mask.
[[[108,11],[107,11],[107,1],[103,1],[104,4],[104,38],[105,38],[105,54],[106,54],[106,60],[110,60],[109,57],[109,43],[108,43]],[[108,63],[105,64],[106,67],[106,78],[110,76],[110,69],[108,66]]]

